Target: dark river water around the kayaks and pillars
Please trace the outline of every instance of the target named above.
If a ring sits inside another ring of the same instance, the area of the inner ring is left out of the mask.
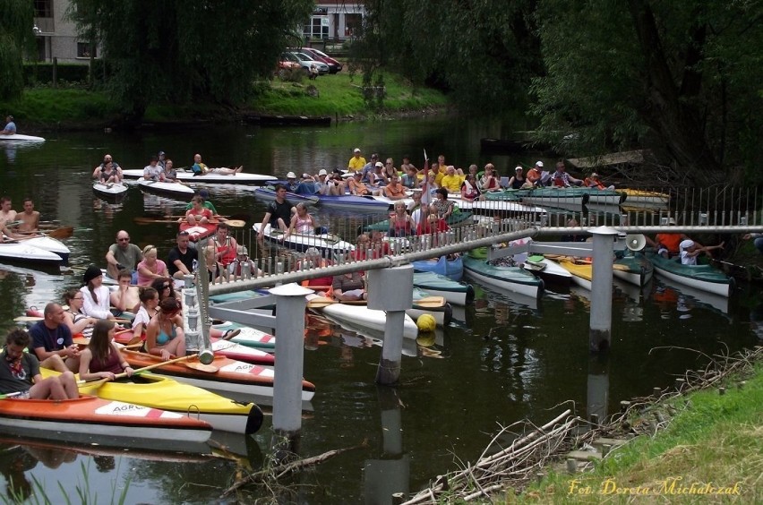
[[[492,133],[487,124],[440,117],[326,128],[204,125],[165,133],[60,133],[39,146],[0,146],[0,192],[13,198],[14,209],[21,210],[22,198],[31,196],[43,219],[75,227],[66,240],[72,260],[64,274],[0,265],[0,331],[25,308],[42,307],[59,300],[66,288],[79,287],[88,264],[104,264],[117,230],[128,230],[141,246],[158,245],[160,257],[173,244],[173,225],[139,226],[133,218],[178,214],[184,203],[143,195],[134,187],[120,204],[107,204],[92,193],[92,167],[106,152],[125,168],[143,167],[159,150],[182,167],[201,152],[211,166],[243,164],[245,171],[277,176],[346,167],[355,147],[366,156],[378,151],[395,158],[396,164],[409,153],[416,165],[425,147],[431,158],[442,152],[464,167],[492,160],[503,174],[539,156],[487,157],[479,152],[479,139],[498,136]],[[251,188],[220,185],[210,193],[223,214],[262,216],[264,205]],[[378,218],[318,217],[350,239],[357,224]],[[244,235],[240,239],[247,241]],[[500,425],[525,417],[543,424],[564,402],[579,415],[606,415],[620,400],[648,394],[672,384],[685,370],[704,366],[706,355],[760,343],[756,321],[763,311],[751,287],[742,285],[728,302],[659,280],[643,291],[618,286],[613,348],[600,356],[588,353],[584,291],[548,291],[536,302],[476,286],[475,303],[457,308],[455,321],[438,330],[434,342],[406,348],[395,389],[374,384],[381,347],[372,338],[311,318],[304,375],[317,392],[312,410],[304,411],[298,452],[306,458],[360,447],[284,482],[277,490],[281,499],[389,502],[391,492],[416,492],[435,475],[474,462]],[[62,449],[53,445],[55,433],[45,443],[2,436],[0,470],[6,482],[39,482],[53,502],[63,501],[63,487],[70,497],[97,493],[99,501],[126,489],[127,503],[206,503],[215,501],[235,475],[259,469],[267,460],[270,420],[254,437],[215,438],[233,459],[92,446]],[[255,489],[253,496],[268,493]]]

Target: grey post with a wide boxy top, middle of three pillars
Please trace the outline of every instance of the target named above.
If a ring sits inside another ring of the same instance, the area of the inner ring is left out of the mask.
[[[413,306],[413,266],[368,270],[365,275],[368,278],[368,308],[387,311],[376,381],[394,384],[400,377],[405,311]]]

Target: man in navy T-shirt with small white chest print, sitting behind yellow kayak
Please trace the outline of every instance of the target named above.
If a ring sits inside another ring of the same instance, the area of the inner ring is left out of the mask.
[[[51,302],[45,305],[43,317],[30,328],[31,350],[40,366],[57,372],[77,372],[80,348],[74,344],[72,331],[64,324],[64,308]]]

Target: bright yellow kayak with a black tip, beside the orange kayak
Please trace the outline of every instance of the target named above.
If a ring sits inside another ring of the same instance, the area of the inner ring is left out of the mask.
[[[58,372],[41,368],[43,377]],[[162,375],[142,372],[132,381],[82,384],[81,394],[119,400],[144,407],[160,408],[192,415],[212,425],[215,430],[250,434],[262,424],[262,411],[253,403],[240,403],[206,389],[183,384]]]

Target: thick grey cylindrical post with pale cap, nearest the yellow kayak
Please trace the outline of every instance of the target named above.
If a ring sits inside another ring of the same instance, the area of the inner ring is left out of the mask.
[[[304,295],[312,289],[294,283],[273,287],[276,295],[276,360],[273,383],[273,432],[292,438],[302,429],[304,375]]]

